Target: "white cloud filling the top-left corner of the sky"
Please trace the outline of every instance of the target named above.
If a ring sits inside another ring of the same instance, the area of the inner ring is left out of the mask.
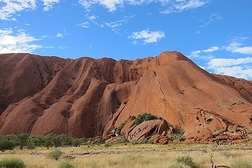
[[[36,8],[36,0],[2,0],[0,20],[16,20],[13,15],[17,12]]]

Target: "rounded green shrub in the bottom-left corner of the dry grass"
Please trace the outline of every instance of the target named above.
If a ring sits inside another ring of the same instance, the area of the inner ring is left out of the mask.
[[[25,164],[21,159],[5,158],[0,160],[1,168],[25,168]]]

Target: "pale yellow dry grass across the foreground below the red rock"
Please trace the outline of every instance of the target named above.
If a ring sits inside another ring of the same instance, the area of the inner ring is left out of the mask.
[[[231,165],[235,160],[250,161],[252,145],[214,146],[197,144],[170,145],[112,145],[111,147],[81,146],[59,148],[65,155],[75,156],[69,162],[77,168],[169,168],[176,158],[189,155],[202,168],[211,167],[210,158],[217,165]],[[0,159],[15,157],[22,159],[28,168],[57,168],[59,161],[46,154],[54,149],[14,150],[0,153]],[[61,159],[62,160],[62,159]]]

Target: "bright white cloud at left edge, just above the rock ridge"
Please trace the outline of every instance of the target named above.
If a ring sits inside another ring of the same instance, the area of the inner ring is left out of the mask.
[[[42,46],[33,44],[36,39],[24,31],[13,33],[11,28],[0,30],[0,53],[31,53]]]

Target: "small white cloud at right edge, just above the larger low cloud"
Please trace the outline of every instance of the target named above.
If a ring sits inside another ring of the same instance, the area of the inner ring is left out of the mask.
[[[242,46],[242,43],[239,42],[231,42],[224,48],[232,53],[252,54],[252,46]]]

